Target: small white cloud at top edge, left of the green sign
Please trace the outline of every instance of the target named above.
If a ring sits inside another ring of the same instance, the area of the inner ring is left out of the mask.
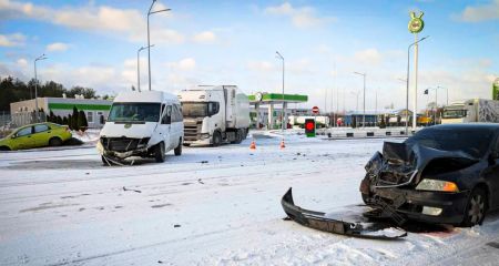
[[[276,7],[268,7],[265,9],[265,13],[289,17],[293,24],[301,29],[322,25],[335,20],[332,17],[317,17],[315,9],[310,7],[294,8],[289,2],[284,2]]]

